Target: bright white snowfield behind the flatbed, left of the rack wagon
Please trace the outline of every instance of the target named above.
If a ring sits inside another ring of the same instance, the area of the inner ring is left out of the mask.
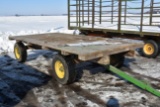
[[[39,34],[39,33],[68,33],[67,16],[30,16],[30,17],[0,17],[0,54],[13,52],[13,41],[9,36]]]

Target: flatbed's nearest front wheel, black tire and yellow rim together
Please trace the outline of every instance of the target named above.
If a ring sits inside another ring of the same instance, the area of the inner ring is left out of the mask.
[[[70,84],[75,81],[75,62],[71,56],[55,55],[53,57],[50,74],[61,84]]]

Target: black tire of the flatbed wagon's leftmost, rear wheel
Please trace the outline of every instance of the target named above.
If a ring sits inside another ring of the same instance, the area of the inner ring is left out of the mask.
[[[20,58],[18,58],[16,56],[16,48],[18,48],[18,51],[19,51],[19,54],[20,54]],[[15,57],[17,59],[18,62],[25,62],[26,59],[27,59],[27,49],[26,47],[24,46],[24,44],[22,42],[17,42],[15,43],[14,45],[14,54],[15,54]]]

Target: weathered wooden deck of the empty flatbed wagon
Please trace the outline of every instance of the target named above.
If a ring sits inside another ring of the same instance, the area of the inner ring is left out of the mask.
[[[78,55],[78,58],[82,61],[102,58],[143,47],[143,42],[60,33],[14,36],[9,39],[24,42],[28,45],[57,50],[65,54]]]

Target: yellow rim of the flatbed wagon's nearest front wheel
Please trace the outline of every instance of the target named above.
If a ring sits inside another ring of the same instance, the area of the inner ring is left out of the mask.
[[[58,76],[58,78],[63,79],[65,76],[65,70],[64,70],[64,65],[62,64],[61,61],[56,61],[55,63],[55,71]]]

